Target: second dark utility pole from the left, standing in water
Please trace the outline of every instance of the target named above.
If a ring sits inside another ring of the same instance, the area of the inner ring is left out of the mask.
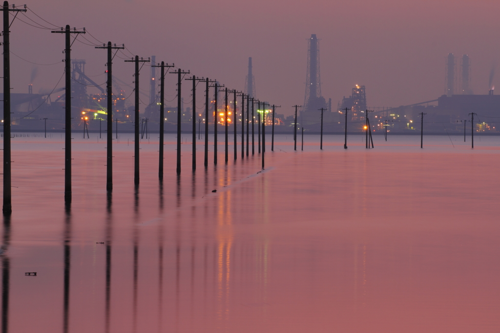
[[[5,4],[5,2],[3,2],[3,4]],[[5,15],[5,11],[3,12],[3,14]],[[4,25],[3,26],[5,27],[5,16],[3,16],[3,17],[4,17],[4,22],[3,22]],[[8,26],[7,26],[7,30],[8,30]],[[66,76],[65,77],[66,87],[65,87],[65,96],[64,96],[64,106],[65,106],[65,112],[64,112],[64,114],[65,114],[65,124],[64,124],[64,128],[65,128],[65,135],[64,135],[64,201],[71,202],[71,45],[72,45],[72,42],[70,40],[70,34],[76,33],[76,35],[73,39],[73,42],[74,42],[76,40],[76,36],[78,35],[78,33],[85,33],[85,28],[83,28],[83,31],[76,31],[76,28],[73,28],[73,30],[71,31],[69,28],[69,24],[68,24],[68,25],[66,25],[65,29],[63,29],[61,27],[60,31],[57,30],[57,31],[50,31],[50,32],[52,32],[52,33],[64,33],[65,44],[66,44],[66,46],[65,46],[66,48],[64,49],[64,53],[65,53],[64,71],[65,71],[65,76]],[[5,51],[4,51],[3,56],[5,57]],[[5,76],[5,73],[3,74],[3,76]],[[3,86],[3,89],[5,89],[5,85]],[[9,105],[9,108],[10,108],[10,105]],[[10,116],[10,114],[9,114],[9,116]],[[3,118],[3,119],[5,120],[5,118]],[[10,140],[10,132],[8,134],[9,134],[8,139]],[[5,139],[5,133],[3,136]],[[10,150],[9,150],[9,155],[10,155]],[[10,158],[7,160],[10,160]],[[5,163],[5,157],[4,157],[3,161]],[[10,170],[9,170],[9,173],[10,173]],[[5,172],[3,174],[3,177],[5,179]],[[10,178],[10,174],[9,174],[9,178]]]

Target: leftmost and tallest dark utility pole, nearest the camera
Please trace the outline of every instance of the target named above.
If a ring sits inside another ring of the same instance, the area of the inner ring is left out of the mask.
[[[3,206],[5,215],[12,213],[11,167],[10,167],[10,11],[26,11],[8,7],[8,1],[3,1]],[[17,13],[16,13],[17,15]],[[15,18],[15,16],[14,16]],[[66,26],[69,29],[69,25]],[[69,36],[69,35],[68,35]],[[67,38],[66,38],[67,39]],[[66,44],[66,48],[69,48]],[[66,74],[67,76],[67,74]],[[67,83],[67,81],[66,81]],[[70,160],[71,162],[71,160]],[[71,164],[70,164],[71,165]],[[71,181],[71,180],[70,180]],[[71,182],[69,182],[69,195],[71,196]],[[70,197],[71,199],[71,197]]]

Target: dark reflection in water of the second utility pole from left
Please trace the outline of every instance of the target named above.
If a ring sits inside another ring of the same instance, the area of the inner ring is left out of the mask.
[[[63,294],[63,315],[62,331],[67,333],[69,324],[69,273],[71,263],[71,202],[64,204],[64,294]]]

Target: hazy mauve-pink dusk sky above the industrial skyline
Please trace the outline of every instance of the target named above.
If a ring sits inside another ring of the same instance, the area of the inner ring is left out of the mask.
[[[332,98],[333,107],[354,84],[366,86],[369,106],[434,99],[444,93],[449,52],[470,56],[472,88],[485,94],[491,68],[500,58],[500,1],[494,0],[32,0],[26,4],[57,26],[85,27],[102,42],[124,43],[139,57],[156,55],[157,61],[174,62],[229,88],[243,89],[251,56],[256,96],[281,105],[279,112],[286,114],[291,114],[291,105],[304,100],[311,33],[320,38],[321,91],[326,100]],[[31,12],[27,16],[51,27]],[[21,14],[18,17],[32,23]],[[10,31],[14,54],[41,64],[64,58],[63,35],[17,19]],[[85,38],[97,42],[88,34]],[[88,43],[80,36],[78,40]],[[126,50],[125,54],[130,55]],[[118,56],[124,57],[119,52]],[[92,77],[96,83],[105,81],[105,50],[76,41],[71,57],[87,61],[85,73],[98,75]],[[63,62],[34,65],[12,55],[12,92],[27,92],[34,71],[33,91],[51,90],[63,67]],[[131,83],[133,63],[115,57],[113,73]],[[144,66],[140,73],[141,89],[147,92],[149,68]],[[167,99],[175,95],[174,76],[167,75]],[[496,81],[498,76],[493,84]],[[190,82],[184,82],[182,95],[190,100]],[[203,94],[197,95],[200,105]]]

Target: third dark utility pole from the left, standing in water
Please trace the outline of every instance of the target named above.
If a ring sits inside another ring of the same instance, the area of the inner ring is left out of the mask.
[[[116,52],[118,52],[118,49],[123,49],[125,48],[125,45],[122,44],[121,46],[111,46],[111,42],[107,42],[107,46],[102,45],[102,46],[95,46],[95,48],[106,48],[107,49],[107,159],[106,159],[106,190],[111,191],[113,189],[113,91],[112,91],[112,81],[113,81],[113,76],[112,76],[112,61],[113,61],[113,54],[112,50],[116,49]],[[116,52],[114,52],[114,55],[116,55]],[[100,132],[100,120],[99,120],[99,132]],[[100,133],[99,133],[100,137]]]

